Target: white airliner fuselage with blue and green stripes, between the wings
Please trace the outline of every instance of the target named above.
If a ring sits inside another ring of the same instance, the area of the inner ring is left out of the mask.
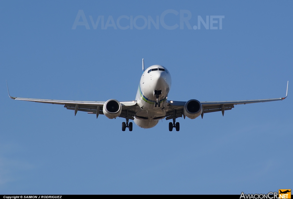
[[[135,98],[140,107],[134,118],[138,126],[151,128],[165,118],[171,82],[169,71],[161,65],[153,65],[142,73]],[[160,107],[155,106],[157,100]]]

